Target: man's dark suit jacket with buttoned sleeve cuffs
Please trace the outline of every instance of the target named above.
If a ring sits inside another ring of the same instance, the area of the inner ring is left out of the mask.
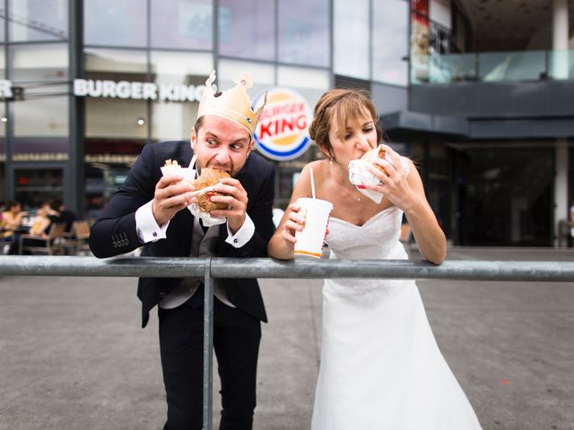
[[[155,185],[161,178],[166,159],[176,159],[188,166],[192,157],[188,141],[160,142],[146,145],[131,168],[126,182],[109,201],[91,228],[90,248],[98,258],[129,253],[142,246],[135,231],[135,211],[153,199]],[[273,235],[274,166],[254,152],[241,168],[237,179],[248,193],[248,215],[255,224],[255,234],[248,243],[235,248],[225,242],[226,224],[219,226],[216,255],[220,257],[265,257],[267,242]],[[143,245],[142,255],[188,257],[193,235],[194,217],[187,209],[171,219],[167,238]],[[181,278],[140,278],[137,296],[142,301],[142,327],[149,312],[163,297],[178,286]],[[266,323],[265,305],[253,279],[223,279],[223,288],[233,305]]]

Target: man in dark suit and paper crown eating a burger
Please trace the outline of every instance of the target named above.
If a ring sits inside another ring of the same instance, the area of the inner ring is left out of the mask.
[[[213,94],[214,73],[199,104],[191,142],[147,145],[100,219],[90,247],[99,258],[143,246],[142,255],[170,257],[265,257],[274,224],[274,166],[251,153],[263,106],[251,107],[246,74]],[[190,144],[191,143],[191,144]],[[206,228],[187,210],[193,187],[178,175],[161,176],[166,159],[187,167],[219,168],[231,177],[216,185],[213,202],[227,203]],[[214,280],[213,347],[222,382],[220,429],[251,429],[256,407],[261,322],[267,321],[257,280]],[[137,296],[145,325],[158,305],[163,382],[168,417],[164,430],[202,428],[204,285],[202,279],[143,278]]]

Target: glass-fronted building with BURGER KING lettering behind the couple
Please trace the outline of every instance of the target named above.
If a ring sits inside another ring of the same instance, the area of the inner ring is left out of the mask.
[[[0,0],[0,201],[98,208],[143,145],[187,139],[215,69],[311,108],[370,90],[453,244],[552,246],[574,203],[572,17],[568,0]],[[320,157],[299,150],[271,156],[279,206]]]

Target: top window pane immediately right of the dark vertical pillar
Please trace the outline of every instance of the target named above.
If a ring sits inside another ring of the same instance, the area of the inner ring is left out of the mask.
[[[147,2],[83,0],[84,43],[111,47],[147,45]]]

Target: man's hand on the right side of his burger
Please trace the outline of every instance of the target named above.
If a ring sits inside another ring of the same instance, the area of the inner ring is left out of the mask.
[[[228,208],[222,211],[209,212],[213,217],[227,217],[227,226],[232,235],[243,227],[248,209],[248,193],[241,183],[233,177],[224,177],[215,185],[214,191],[225,195],[214,195],[212,202],[227,203]]]

